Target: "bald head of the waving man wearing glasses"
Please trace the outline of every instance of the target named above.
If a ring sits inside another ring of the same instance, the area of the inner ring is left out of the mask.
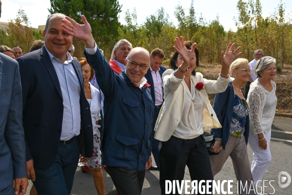
[[[128,78],[139,86],[149,69],[150,53],[143,47],[135,47],[128,54],[125,64]]]

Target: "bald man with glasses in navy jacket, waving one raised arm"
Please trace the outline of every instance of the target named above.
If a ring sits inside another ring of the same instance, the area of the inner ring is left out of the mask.
[[[139,195],[145,169],[151,159],[153,101],[144,75],[150,66],[150,54],[141,47],[131,50],[126,70],[115,73],[95,43],[90,24],[83,25],[66,17],[65,32],[85,42],[84,54],[95,69],[97,83],[104,94],[104,132],[101,144],[102,164],[106,165],[119,195]]]

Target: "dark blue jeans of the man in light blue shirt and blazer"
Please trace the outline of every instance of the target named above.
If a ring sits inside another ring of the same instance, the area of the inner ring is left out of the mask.
[[[70,144],[59,143],[53,165],[44,169],[35,167],[36,180],[33,183],[38,195],[70,195],[79,153],[77,138]]]

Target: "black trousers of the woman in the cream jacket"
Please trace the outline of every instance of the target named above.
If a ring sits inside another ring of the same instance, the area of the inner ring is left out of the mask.
[[[174,136],[162,142],[160,150],[160,188],[165,195],[165,180],[181,180],[184,178],[186,165],[189,168],[191,180],[213,180],[209,154],[202,135],[194,139],[180,139]],[[211,185],[212,186],[212,185]],[[207,190],[206,190],[207,192]],[[212,187],[209,188],[212,192]],[[173,194],[173,192],[171,192]],[[177,188],[175,195],[178,195]]]

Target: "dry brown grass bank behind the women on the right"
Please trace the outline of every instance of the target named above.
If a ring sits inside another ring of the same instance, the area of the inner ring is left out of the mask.
[[[208,64],[201,62],[200,69],[204,78],[217,80],[219,72],[221,70],[221,65],[216,63]],[[282,72],[277,74],[275,83],[277,85],[277,109],[276,112],[281,113],[292,113],[292,65],[284,65]],[[243,87],[243,90],[244,87]],[[214,94],[209,95],[211,103],[214,99]]]

